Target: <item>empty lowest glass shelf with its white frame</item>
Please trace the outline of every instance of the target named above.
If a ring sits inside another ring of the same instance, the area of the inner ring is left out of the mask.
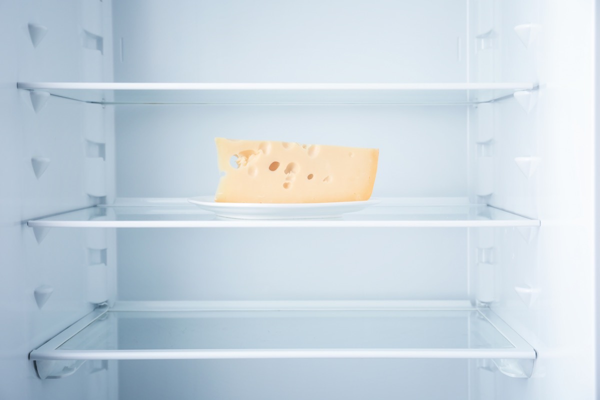
[[[99,308],[29,358],[536,358],[535,350],[487,309],[148,309]]]

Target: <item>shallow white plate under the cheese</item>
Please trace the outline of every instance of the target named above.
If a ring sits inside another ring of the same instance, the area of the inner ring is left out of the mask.
[[[217,203],[213,196],[188,199],[218,216],[236,219],[335,218],[379,203],[377,199],[337,203]]]

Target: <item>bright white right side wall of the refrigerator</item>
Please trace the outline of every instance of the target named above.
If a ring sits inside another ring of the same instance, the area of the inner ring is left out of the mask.
[[[503,1],[496,13],[497,76],[535,73],[539,91],[494,106],[490,203],[541,219],[496,231],[492,308],[538,351],[529,380],[497,376],[496,398],[594,399],[595,2]]]

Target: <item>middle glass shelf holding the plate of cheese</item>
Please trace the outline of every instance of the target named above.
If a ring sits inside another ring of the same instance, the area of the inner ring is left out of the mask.
[[[382,201],[337,218],[230,219],[196,206],[95,206],[28,222],[32,228],[538,227],[490,206],[397,206]]]

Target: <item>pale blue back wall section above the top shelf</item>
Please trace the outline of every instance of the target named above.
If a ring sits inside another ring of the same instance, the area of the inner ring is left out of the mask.
[[[466,2],[115,2],[119,82],[462,82]],[[443,67],[441,67],[443,66]]]

